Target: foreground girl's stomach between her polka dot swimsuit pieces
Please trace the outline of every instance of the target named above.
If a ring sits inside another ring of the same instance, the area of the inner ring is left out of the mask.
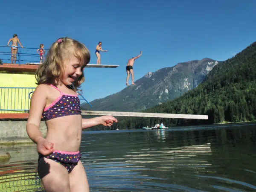
[[[82,132],[81,115],[58,117],[47,121],[46,125],[46,140],[54,144],[54,150],[79,151]]]

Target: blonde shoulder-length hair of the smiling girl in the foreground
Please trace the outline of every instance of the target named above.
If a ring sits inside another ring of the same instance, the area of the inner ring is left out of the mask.
[[[58,43],[61,42],[61,43]],[[84,67],[90,62],[90,52],[81,44],[71,38],[59,38],[50,47],[44,63],[38,66],[35,72],[37,84],[53,84],[57,86],[57,82],[61,82],[64,74],[64,61],[67,61],[73,54],[82,65],[82,75],[78,80],[73,82],[71,86],[74,91],[81,91],[78,88],[84,82]]]

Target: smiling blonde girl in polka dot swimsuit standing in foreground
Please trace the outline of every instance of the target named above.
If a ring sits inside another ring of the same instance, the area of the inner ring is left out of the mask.
[[[89,192],[87,176],[80,161],[82,129],[95,125],[111,126],[113,116],[82,119],[77,95],[84,82],[84,67],[90,53],[84,44],[60,38],[38,66],[38,86],[31,98],[26,131],[37,144],[38,175],[46,192]],[[41,116],[47,135],[39,130]]]

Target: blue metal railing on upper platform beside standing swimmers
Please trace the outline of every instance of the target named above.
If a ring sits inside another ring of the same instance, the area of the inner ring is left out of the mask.
[[[0,60],[11,61],[11,56],[12,56],[11,48],[12,46],[0,45]],[[40,49],[40,48],[17,47],[16,64],[20,65],[22,61],[24,62],[23,64],[25,64],[25,62],[39,63],[41,56],[38,54],[37,49]],[[45,51],[44,55],[42,56],[43,61],[47,55],[48,50],[49,49],[43,49],[43,52]],[[38,61],[35,61],[34,58],[38,58]],[[14,58],[13,58],[13,63],[14,63]]]

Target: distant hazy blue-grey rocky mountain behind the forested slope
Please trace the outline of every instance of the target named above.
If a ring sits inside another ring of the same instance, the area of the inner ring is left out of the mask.
[[[178,63],[155,72],[148,72],[142,78],[118,93],[90,104],[81,104],[83,110],[93,111],[143,111],[163,102],[175,99],[194,89],[220,61],[211,58]]]

